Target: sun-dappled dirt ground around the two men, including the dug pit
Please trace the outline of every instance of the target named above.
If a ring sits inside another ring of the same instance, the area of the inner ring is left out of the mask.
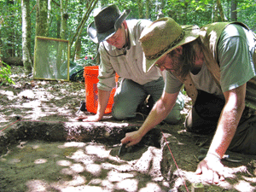
[[[84,82],[34,80],[22,67],[12,71],[15,84],[0,90],[0,192],[201,191],[198,183],[204,191],[256,191],[254,155],[228,151],[241,162],[223,160],[228,177],[222,183],[210,185],[195,175],[211,136],[183,131],[191,108],[187,96],[178,125],[156,126],[119,155],[120,139],[142,125],[142,114],[129,121],[108,114],[101,122],[78,122],[77,115],[92,115],[77,113]]]

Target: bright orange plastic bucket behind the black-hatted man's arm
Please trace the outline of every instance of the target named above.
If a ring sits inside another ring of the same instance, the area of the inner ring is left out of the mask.
[[[90,113],[96,113],[98,108],[98,88],[97,83],[99,82],[98,79],[99,74],[99,67],[98,66],[89,66],[84,67],[84,86],[85,86],[85,103],[86,109]],[[116,73],[115,75],[115,82],[118,83],[119,76]],[[117,85],[110,93],[108,106],[105,109],[105,113],[111,113],[112,105],[113,105],[113,96]]]

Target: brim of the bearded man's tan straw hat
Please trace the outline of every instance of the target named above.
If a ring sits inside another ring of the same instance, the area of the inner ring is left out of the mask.
[[[182,26],[183,28],[187,26]],[[146,73],[150,71],[152,67],[154,67],[154,64],[156,61],[158,61],[162,56],[165,56],[169,52],[171,52],[173,49],[176,49],[178,46],[181,46],[183,44],[189,44],[192,41],[195,41],[196,38],[199,37],[199,27],[198,26],[193,26],[191,30],[184,30],[184,37],[181,39],[178,44],[173,46],[171,49],[166,50],[165,53],[160,55],[159,57],[153,59],[153,60],[148,60],[145,55],[143,54],[143,71]]]

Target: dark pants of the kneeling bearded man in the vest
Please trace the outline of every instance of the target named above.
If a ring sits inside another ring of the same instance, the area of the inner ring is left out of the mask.
[[[196,134],[211,134],[216,131],[224,100],[199,90],[195,105],[185,121],[185,128]],[[229,150],[243,154],[256,154],[256,116],[248,117],[248,108],[242,114]]]

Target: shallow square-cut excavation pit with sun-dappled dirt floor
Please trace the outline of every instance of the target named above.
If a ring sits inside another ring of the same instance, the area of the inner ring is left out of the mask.
[[[20,121],[1,134],[1,192],[167,191],[160,173],[160,130],[119,156],[120,139],[137,128]]]

